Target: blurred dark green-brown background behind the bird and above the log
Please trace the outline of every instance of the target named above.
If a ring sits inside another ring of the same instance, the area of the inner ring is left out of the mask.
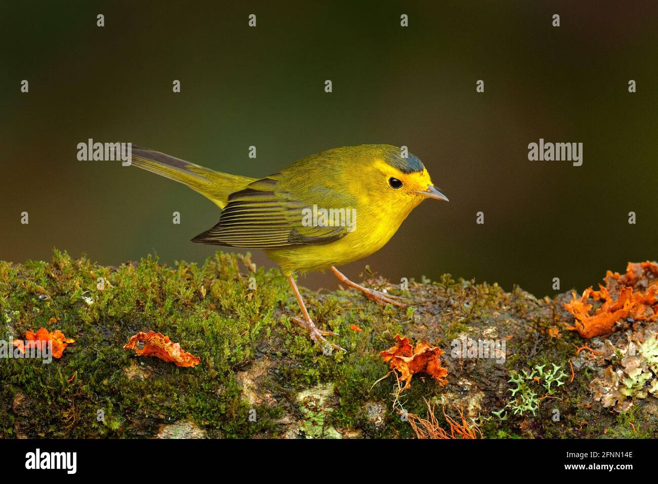
[[[253,177],[387,143],[408,146],[450,202],[422,203],[345,274],[368,264],[393,282],[449,272],[537,296],[555,293],[553,277],[582,290],[657,258],[657,18],[655,1],[3,2],[0,259],[214,253],[190,242],[218,221],[213,203],[135,167],[78,161],[88,138]],[[583,165],[528,161],[540,138],[582,142]]]

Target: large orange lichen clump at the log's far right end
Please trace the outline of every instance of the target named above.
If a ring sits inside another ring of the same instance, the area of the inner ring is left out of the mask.
[[[563,303],[576,320],[568,327],[578,331],[584,338],[608,335],[616,329],[620,319],[634,321],[656,321],[658,319],[658,264],[655,262],[628,263],[626,274],[607,271],[605,286],[599,290],[591,287],[578,298]],[[597,309],[590,303],[599,301]]]

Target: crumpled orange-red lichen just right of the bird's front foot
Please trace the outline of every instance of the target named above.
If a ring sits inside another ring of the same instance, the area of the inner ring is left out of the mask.
[[[400,381],[405,382],[405,389],[411,387],[411,377],[416,373],[426,373],[438,380],[443,387],[448,381],[445,378],[447,369],[441,365],[440,356],[443,350],[436,346],[430,346],[426,342],[417,344],[414,349],[409,343],[409,338],[395,335],[397,343],[390,349],[380,352],[384,362],[390,363],[391,369],[399,372]]]

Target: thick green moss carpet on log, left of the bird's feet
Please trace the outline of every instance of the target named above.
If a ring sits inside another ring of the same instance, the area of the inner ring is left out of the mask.
[[[22,338],[46,327],[76,340],[51,364],[3,362],[3,411],[22,402],[22,428],[30,437],[149,435],[159,423],[188,416],[227,437],[263,430],[240,425],[248,408],[234,370],[253,358],[286,292],[268,284],[277,271],[252,275],[263,289],[250,295],[238,257],[226,254],[203,267],[166,267],[149,256],[111,269],[58,251],[51,263],[0,262],[3,335]],[[130,379],[126,368],[136,357],[122,346],[132,334],[148,330],[180,342],[201,357],[201,365],[179,368],[147,358],[139,363],[151,376]],[[7,417],[1,419],[2,431],[15,437],[15,417]]]

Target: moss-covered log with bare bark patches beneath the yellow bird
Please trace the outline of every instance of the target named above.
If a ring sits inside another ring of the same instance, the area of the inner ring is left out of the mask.
[[[365,283],[415,308],[305,290],[316,324],[340,333],[347,349],[323,353],[291,323],[298,308],[285,278],[249,255],[174,267],[149,256],[104,267],[55,250],[50,262],[0,262],[0,339],[45,327],[76,340],[49,364],[0,360],[0,436],[414,437],[392,408],[393,379],[373,387],[389,371],[379,352],[399,333],[446,352],[447,386],[417,375],[397,398],[410,414],[426,415],[426,398],[453,417],[463,413],[484,437],[601,437],[605,429],[657,437],[654,402],[617,414],[594,401],[589,384],[603,370],[576,354],[582,340],[565,331],[571,319],[559,304],[567,296],[538,299],[449,275],[409,281],[407,290],[371,275]],[[122,350],[151,330],[201,363],[182,368]],[[455,357],[453,342],[463,338],[504,341],[506,358]],[[534,415],[502,412],[515,397],[510,372],[551,363],[569,368],[569,378],[538,398]]]

